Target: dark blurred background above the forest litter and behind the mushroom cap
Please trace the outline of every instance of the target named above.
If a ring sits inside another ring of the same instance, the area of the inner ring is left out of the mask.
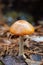
[[[0,0],[0,19],[7,22],[24,19],[33,25],[43,24],[42,0]]]

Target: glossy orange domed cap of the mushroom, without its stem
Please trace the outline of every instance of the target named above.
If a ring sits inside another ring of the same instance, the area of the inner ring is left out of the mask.
[[[34,27],[25,20],[18,20],[12,24],[10,32],[18,36],[29,35],[34,33]]]

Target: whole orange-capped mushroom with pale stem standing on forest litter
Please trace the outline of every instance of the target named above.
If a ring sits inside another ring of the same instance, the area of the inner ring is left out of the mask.
[[[19,56],[24,56],[23,36],[34,33],[34,27],[25,20],[18,20],[10,27],[10,32],[20,37],[19,41]]]

